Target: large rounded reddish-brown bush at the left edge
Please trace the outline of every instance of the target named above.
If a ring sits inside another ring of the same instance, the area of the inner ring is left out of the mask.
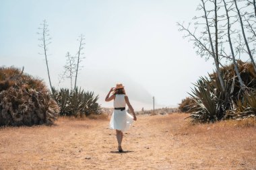
[[[59,106],[40,79],[0,68],[0,126],[53,124],[58,115]]]

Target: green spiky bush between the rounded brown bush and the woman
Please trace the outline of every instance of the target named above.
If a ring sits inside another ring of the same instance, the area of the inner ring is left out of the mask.
[[[53,97],[61,108],[61,116],[83,117],[90,114],[100,114],[98,95],[92,91],[81,89],[53,89]]]

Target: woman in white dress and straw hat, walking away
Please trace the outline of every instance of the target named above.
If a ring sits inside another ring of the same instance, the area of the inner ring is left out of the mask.
[[[113,95],[110,93],[113,92]],[[125,89],[121,83],[117,84],[116,87],[112,87],[106,95],[105,101],[114,100],[114,112],[111,116],[110,120],[110,129],[115,129],[117,132],[117,142],[118,142],[118,150],[119,152],[123,152],[123,148],[121,146],[123,140],[123,131],[127,130],[129,126],[131,126],[133,120],[137,120],[133,107],[131,106],[128,96],[125,93]],[[125,110],[125,105],[128,105],[129,110],[133,116],[128,114]]]

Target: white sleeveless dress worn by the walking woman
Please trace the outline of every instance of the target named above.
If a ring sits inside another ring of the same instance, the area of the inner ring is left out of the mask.
[[[116,95],[114,108],[125,108],[125,105],[125,95]],[[109,128],[125,131],[129,129],[132,123],[133,116],[128,114],[126,110],[114,110],[110,119]]]

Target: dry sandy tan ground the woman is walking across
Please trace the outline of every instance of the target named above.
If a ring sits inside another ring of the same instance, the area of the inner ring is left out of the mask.
[[[109,120],[0,128],[0,169],[256,169],[256,127],[137,116],[117,151]]]

